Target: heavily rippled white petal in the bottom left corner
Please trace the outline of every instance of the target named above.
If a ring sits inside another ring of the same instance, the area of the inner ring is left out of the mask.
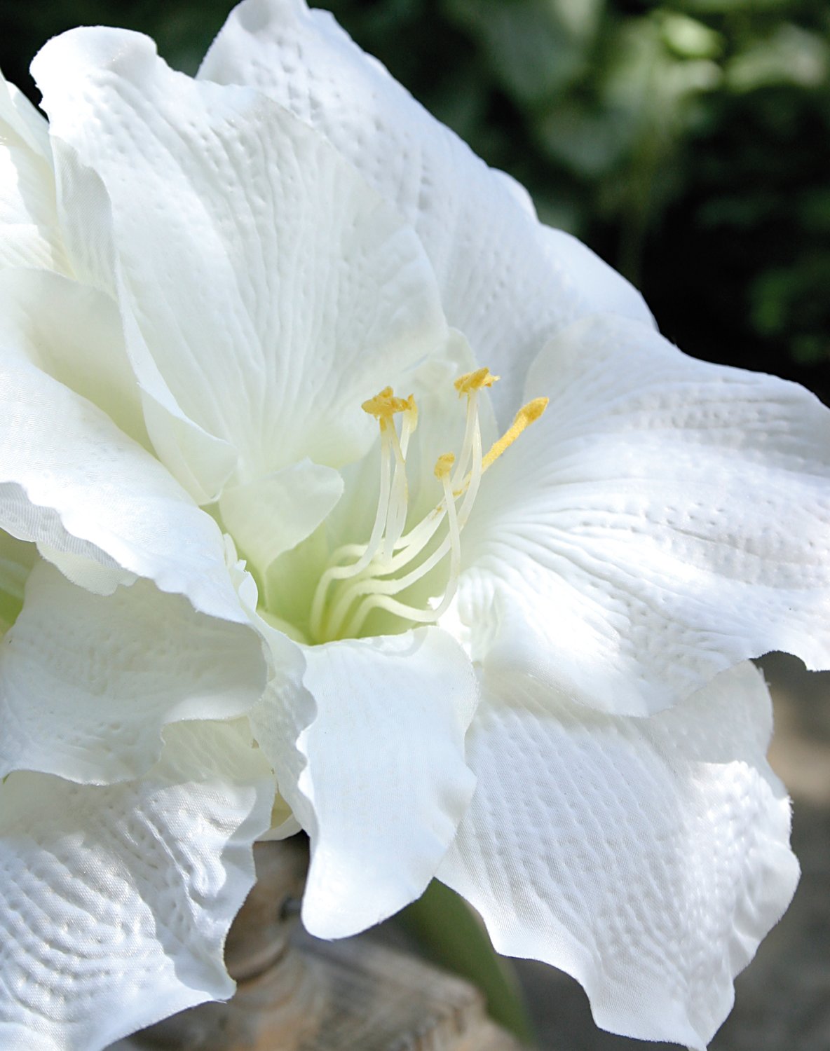
[[[140,781],[13,774],[0,788],[0,1045],[99,1051],[234,983],[270,771],[245,724],[168,727]]]

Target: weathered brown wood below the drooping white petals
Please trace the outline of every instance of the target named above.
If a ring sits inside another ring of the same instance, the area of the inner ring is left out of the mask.
[[[112,1051],[519,1051],[481,993],[370,934],[321,942],[299,926],[306,869],[292,841],[256,848],[257,884],[228,936],[238,989]]]

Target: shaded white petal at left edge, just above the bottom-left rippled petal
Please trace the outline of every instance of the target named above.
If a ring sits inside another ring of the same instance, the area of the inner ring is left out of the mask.
[[[259,636],[140,580],[102,598],[48,562],[0,652],[0,777],[106,784],[144,774],[162,729],[243,715],[265,687]]]

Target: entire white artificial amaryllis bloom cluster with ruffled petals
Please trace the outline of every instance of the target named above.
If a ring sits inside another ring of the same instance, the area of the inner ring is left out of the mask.
[[[0,85],[0,1045],[227,996],[251,844],[302,826],[313,933],[438,875],[601,1026],[703,1048],[797,879],[742,662],[828,663],[826,411],[685,357],[302,0],[241,4],[196,80],[106,28],[34,73],[48,127]]]

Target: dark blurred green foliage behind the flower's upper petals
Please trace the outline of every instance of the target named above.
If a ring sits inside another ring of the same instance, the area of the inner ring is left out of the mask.
[[[826,0],[325,5],[543,219],[631,277],[684,349],[830,396]],[[102,22],[193,71],[230,6],[14,4],[0,65],[23,83],[47,37]]]

